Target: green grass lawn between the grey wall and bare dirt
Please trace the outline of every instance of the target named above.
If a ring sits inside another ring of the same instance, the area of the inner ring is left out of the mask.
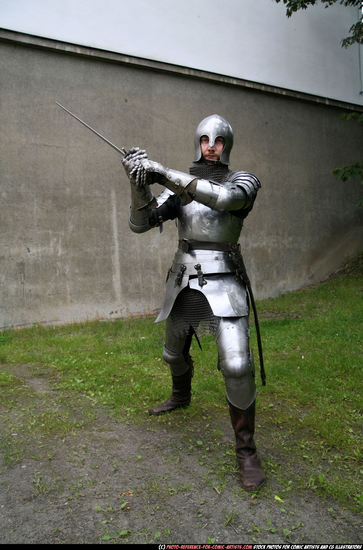
[[[259,425],[268,430],[281,456],[288,453],[289,462],[298,463],[300,487],[334,496],[353,507],[362,498],[363,314],[358,264],[356,261],[339,277],[320,285],[258,302],[265,388],[260,384],[251,326]],[[122,421],[148,422],[146,409],[170,391],[169,370],[161,359],[164,328],[146,318],[6,330],[0,333],[2,407],[16,407],[19,396],[31,399],[29,387],[6,369],[6,365],[28,364],[39,372],[46,368],[60,392],[86,395],[93,404],[106,405]],[[173,417],[180,426],[187,418],[186,430],[211,412],[226,414],[213,338],[204,336],[202,346],[202,351],[195,342],[192,346],[192,405],[187,413],[176,411]],[[64,410],[58,415],[38,410],[33,417],[39,434],[62,435],[80,425]],[[30,421],[23,419],[23,429]],[[154,422],[170,423],[170,417]],[[17,450],[12,452],[16,455]],[[269,468],[283,477],[284,469],[279,469],[277,462],[271,459]],[[230,466],[226,465],[228,471]]]

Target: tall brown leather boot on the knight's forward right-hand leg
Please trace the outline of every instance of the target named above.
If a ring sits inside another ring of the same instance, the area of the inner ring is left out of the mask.
[[[266,476],[253,440],[255,403],[254,401],[248,409],[243,411],[228,402],[229,414],[236,435],[236,455],[240,466],[241,482],[246,491],[258,491],[266,483]]]

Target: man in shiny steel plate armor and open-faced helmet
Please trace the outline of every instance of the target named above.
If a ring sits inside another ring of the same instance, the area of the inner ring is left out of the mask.
[[[192,337],[197,330],[212,332],[236,437],[241,482],[246,490],[256,491],[266,477],[253,439],[256,384],[238,239],[260,182],[248,172],[229,170],[232,145],[230,124],[215,114],[196,129],[189,174],[150,160],[137,147],[127,152],[123,165],[131,182],[131,230],[142,233],[166,220],[178,220],[179,246],[156,320],[166,320],[163,358],[170,366],[172,393],[149,413],[160,415],[190,404]],[[151,192],[153,183],[165,187],[157,198]]]

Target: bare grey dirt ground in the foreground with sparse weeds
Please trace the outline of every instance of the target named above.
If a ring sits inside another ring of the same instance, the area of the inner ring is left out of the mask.
[[[26,365],[6,370],[32,388],[39,410],[67,409],[84,424],[65,436],[34,435],[30,446],[20,441],[20,462],[2,465],[3,544],[361,542],[358,514],[274,475],[276,465],[294,465],[265,427],[256,439],[268,483],[248,494],[239,485],[227,411],[203,423],[187,410],[167,422],[145,411],[143,425],[127,424],[86,398],[67,401],[51,373]],[[19,421],[21,407],[7,409],[2,433]]]

